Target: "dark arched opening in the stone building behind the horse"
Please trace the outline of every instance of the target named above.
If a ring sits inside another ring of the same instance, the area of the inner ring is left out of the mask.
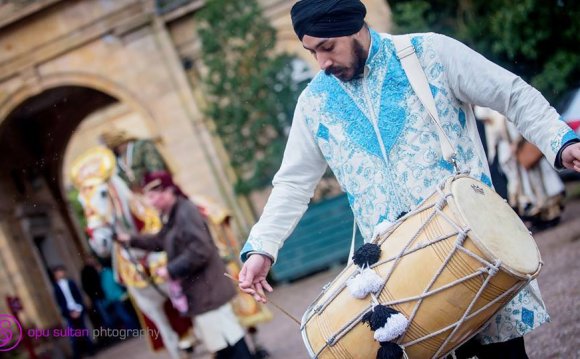
[[[88,250],[66,199],[67,146],[87,117],[119,104],[93,88],[59,86],[22,101],[0,122],[0,277],[11,280],[0,289],[20,297],[28,327],[60,323],[56,307],[47,307],[49,270],[64,264],[78,280]]]

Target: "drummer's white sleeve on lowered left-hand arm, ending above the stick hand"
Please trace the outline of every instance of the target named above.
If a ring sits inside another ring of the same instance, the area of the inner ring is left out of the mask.
[[[276,261],[326,171],[326,160],[306,123],[304,96],[303,93],[296,105],[282,165],[272,181],[272,193],[242,248],[242,261],[251,253],[265,254]]]

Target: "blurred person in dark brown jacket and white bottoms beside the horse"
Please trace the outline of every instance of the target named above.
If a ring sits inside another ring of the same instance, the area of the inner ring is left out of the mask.
[[[143,192],[161,213],[163,228],[156,235],[119,233],[118,240],[167,253],[167,266],[157,274],[170,281],[174,306],[193,316],[202,341],[216,358],[251,358],[245,332],[230,304],[236,289],[223,275],[225,265],[198,208],[167,172],[147,174]]]

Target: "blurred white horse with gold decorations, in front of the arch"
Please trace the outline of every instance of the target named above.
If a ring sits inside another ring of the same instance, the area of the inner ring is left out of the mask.
[[[157,232],[161,228],[157,213],[115,174],[108,179],[89,178],[77,183],[77,187],[87,219],[90,247],[97,256],[112,259],[116,278],[127,287],[141,312],[159,329],[171,357],[179,358],[179,335],[164,311],[167,283],[148,274],[154,274],[167,263],[165,252],[129,249],[114,241],[118,229],[127,233]]]

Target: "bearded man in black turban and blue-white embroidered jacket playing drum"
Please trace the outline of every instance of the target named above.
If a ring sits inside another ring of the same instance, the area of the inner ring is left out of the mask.
[[[327,165],[347,193],[367,242],[377,227],[415,208],[455,172],[391,35],[365,24],[359,0],[302,0],[291,15],[298,38],[322,71],[298,100],[274,189],[242,249],[240,288],[259,301],[265,301],[264,289],[272,291],[266,275]],[[459,169],[492,185],[475,104],[512,119],[556,168],[580,171],[580,140],[537,90],[449,37],[414,34],[411,42]],[[473,351],[459,350],[459,356],[527,357],[523,335],[549,316],[535,281],[516,298],[468,342]],[[512,314],[517,309],[520,314]]]

